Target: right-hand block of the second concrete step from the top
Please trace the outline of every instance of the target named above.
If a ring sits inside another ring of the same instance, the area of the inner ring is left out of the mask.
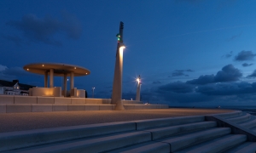
[[[148,129],[145,131],[152,133],[152,140],[155,140],[155,139],[163,139],[163,138],[170,137],[177,134],[205,130],[212,127],[217,127],[217,123],[216,122],[195,122],[195,123],[183,124],[183,125],[172,126],[172,127]]]

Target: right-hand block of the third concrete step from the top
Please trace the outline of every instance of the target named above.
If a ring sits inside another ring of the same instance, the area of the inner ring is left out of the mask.
[[[197,133],[189,133],[183,136],[177,136],[168,139],[160,139],[158,141],[170,144],[170,150],[171,152],[173,152],[177,150],[182,150],[191,145],[202,143],[210,139],[215,139],[227,135],[229,133],[231,133],[230,127],[216,127]]]

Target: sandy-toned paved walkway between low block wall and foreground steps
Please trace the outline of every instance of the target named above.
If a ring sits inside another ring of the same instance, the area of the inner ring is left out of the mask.
[[[0,114],[0,133],[102,122],[123,122],[173,116],[203,116],[230,112],[222,109],[154,109],[133,111],[60,111]]]

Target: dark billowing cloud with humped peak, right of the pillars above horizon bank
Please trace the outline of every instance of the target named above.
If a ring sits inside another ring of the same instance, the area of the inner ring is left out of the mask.
[[[233,65],[225,65],[221,71],[214,75],[202,75],[197,79],[187,81],[189,84],[207,84],[213,82],[234,82],[242,77],[241,71],[236,69]]]

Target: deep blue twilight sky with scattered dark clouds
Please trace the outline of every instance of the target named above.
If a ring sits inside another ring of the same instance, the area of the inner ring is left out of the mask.
[[[37,62],[83,66],[75,87],[110,98],[119,21],[123,98],[168,105],[256,105],[254,0],[2,0],[0,79],[44,86]],[[55,77],[61,86],[61,77]]]

